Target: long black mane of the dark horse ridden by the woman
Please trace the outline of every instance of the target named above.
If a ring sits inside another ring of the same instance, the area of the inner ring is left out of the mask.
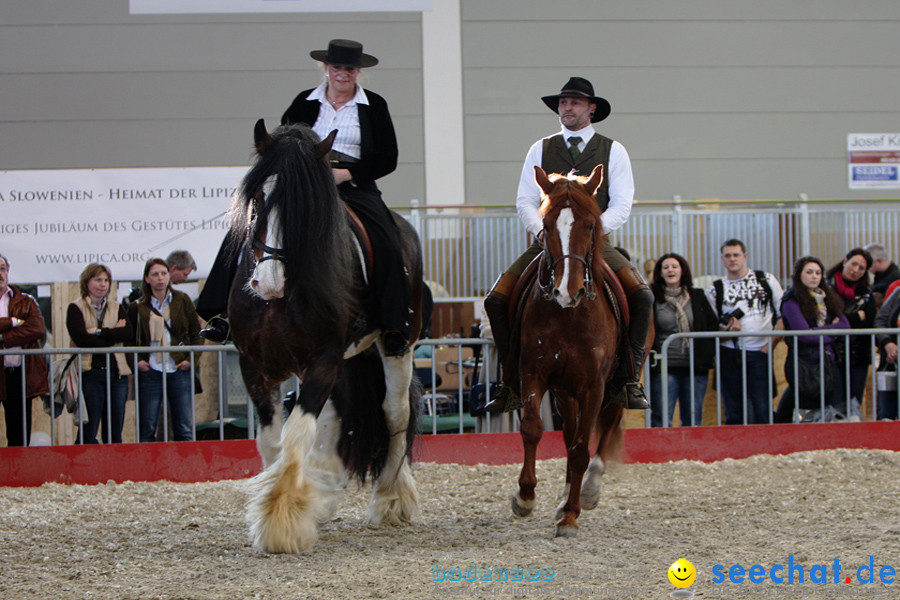
[[[331,168],[305,125],[276,128],[235,195],[231,235],[251,239],[278,210],[285,299],[332,319],[353,306],[350,232]],[[256,201],[262,198],[263,201]],[[255,211],[252,210],[255,208]]]

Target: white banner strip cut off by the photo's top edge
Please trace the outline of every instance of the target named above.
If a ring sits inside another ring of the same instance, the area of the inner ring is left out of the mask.
[[[133,15],[192,13],[421,12],[433,0],[130,0]]]

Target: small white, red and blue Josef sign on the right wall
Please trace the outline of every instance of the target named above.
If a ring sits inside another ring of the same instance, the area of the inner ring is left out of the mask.
[[[847,163],[851,190],[900,189],[900,133],[849,134]]]

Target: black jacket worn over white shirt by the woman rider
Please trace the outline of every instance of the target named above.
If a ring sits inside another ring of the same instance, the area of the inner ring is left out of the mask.
[[[305,123],[312,127],[319,117],[318,100],[306,98],[313,90],[305,90],[294,98],[281,117],[282,125]],[[397,135],[388,111],[387,102],[375,92],[366,90],[369,104],[358,104],[359,128],[362,141],[362,156],[358,163],[350,167],[353,181],[357,185],[373,184],[397,168]]]

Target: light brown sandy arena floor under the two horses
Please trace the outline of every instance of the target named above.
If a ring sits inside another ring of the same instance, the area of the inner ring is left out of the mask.
[[[618,465],[575,539],[553,537],[563,465],[538,464],[538,507],[526,519],[509,509],[515,465],[417,464],[422,514],[404,528],[364,526],[369,489],[351,485],[336,519],[300,555],[250,547],[241,481],[0,488],[0,596],[668,598],[676,588],[666,572],[679,557],[698,571],[689,588],[697,597],[900,596],[900,584],[879,581],[884,565],[900,570],[900,454]],[[804,567],[802,584],[713,584],[716,565],[726,577],[734,564],[768,573],[791,556]],[[875,581],[862,584],[857,569],[870,556]],[[827,567],[828,583],[810,581],[816,565],[817,577]],[[493,579],[501,568],[511,577],[521,569],[523,581],[465,580],[486,569]]]

